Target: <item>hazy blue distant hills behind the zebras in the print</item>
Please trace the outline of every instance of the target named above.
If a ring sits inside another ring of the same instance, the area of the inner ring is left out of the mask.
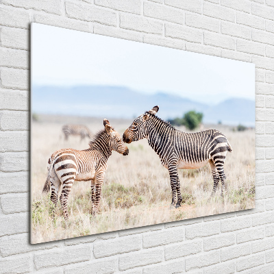
[[[42,114],[99,116],[132,119],[154,105],[158,116],[170,119],[189,110],[203,112],[204,123],[255,125],[255,102],[232,98],[218,105],[206,105],[190,99],[157,92],[153,95],[116,86],[34,86],[32,111]]]

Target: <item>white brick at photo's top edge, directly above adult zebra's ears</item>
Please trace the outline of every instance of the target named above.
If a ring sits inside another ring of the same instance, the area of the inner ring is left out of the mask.
[[[144,15],[164,21],[184,25],[184,12],[170,8],[166,5],[156,5],[154,3],[144,3]]]

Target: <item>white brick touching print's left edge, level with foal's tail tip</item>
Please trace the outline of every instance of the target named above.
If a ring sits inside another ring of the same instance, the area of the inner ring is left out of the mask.
[[[0,194],[27,192],[29,190],[29,173],[0,173]]]

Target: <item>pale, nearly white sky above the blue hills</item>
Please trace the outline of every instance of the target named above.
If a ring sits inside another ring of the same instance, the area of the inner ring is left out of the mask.
[[[219,103],[255,99],[255,65],[32,23],[32,84],[126,86]]]

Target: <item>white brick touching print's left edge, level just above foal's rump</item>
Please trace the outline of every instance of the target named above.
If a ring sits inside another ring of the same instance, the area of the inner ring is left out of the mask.
[[[28,151],[28,132],[1,132],[0,131],[0,152],[7,151]]]

